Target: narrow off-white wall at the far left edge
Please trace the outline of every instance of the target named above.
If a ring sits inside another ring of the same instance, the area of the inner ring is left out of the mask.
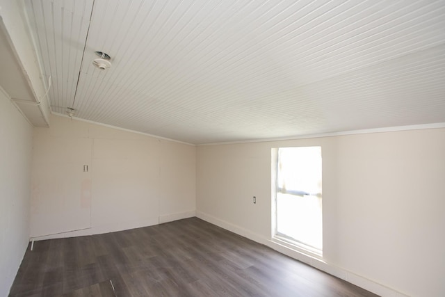
[[[8,296],[29,242],[32,133],[0,88],[0,296]]]

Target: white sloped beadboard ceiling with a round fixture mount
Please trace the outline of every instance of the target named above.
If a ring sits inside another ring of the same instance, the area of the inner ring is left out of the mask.
[[[193,144],[445,122],[444,0],[24,3],[56,113]]]

